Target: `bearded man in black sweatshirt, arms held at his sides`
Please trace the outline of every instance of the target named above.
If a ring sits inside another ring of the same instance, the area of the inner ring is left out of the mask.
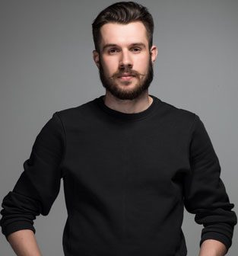
[[[185,256],[184,206],[203,224],[200,256],[223,256],[236,214],[198,115],[148,94],[157,47],[147,8],[118,2],[93,23],[106,94],[52,115],[2,203],[2,232],[19,255],[40,255],[33,219],[64,181],[65,255]]]

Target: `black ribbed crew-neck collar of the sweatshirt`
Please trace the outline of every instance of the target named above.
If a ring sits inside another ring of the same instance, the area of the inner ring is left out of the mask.
[[[149,94],[149,96],[151,96],[151,98],[153,98],[153,101],[151,103],[151,105],[141,111],[141,112],[138,112],[138,113],[123,113],[123,112],[120,112],[118,110],[113,110],[112,108],[110,107],[107,107],[106,104],[104,103],[103,101],[103,97],[105,95],[101,95],[99,98],[96,98],[96,102],[97,104],[99,105],[100,109],[103,110],[104,112],[106,112],[107,114],[109,114],[110,116],[113,116],[117,119],[120,119],[120,120],[141,120],[141,119],[144,119],[146,117],[148,117],[149,115],[151,115],[154,110],[156,109],[157,105],[160,104],[160,99],[157,98],[156,96],[154,95],[151,95]]]

